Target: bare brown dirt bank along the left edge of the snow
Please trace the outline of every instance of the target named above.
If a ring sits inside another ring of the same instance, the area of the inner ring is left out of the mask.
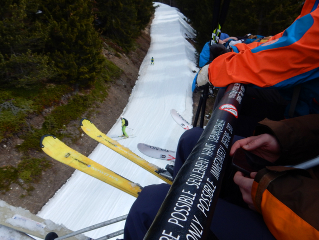
[[[120,56],[115,57],[114,54],[109,53],[108,51],[103,52],[108,60],[112,61],[123,70],[120,78],[114,83],[109,84],[108,94],[105,100],[102,103],[96,104],[96,106],[92,106],[92,109],[88,111],[90,112],[89,119],[104,133],[107,133],[114,125],[122,113],[122,110],[127,105],[129,95],[138,77],[140,64],[147,54],[150,45],[150,23],[146,29],[142,31],[142,35],[137,39],[136,50],[130,52],[128,56],[120,54]],[[49,112],[52,109],[45,109],[45,111]],[[45,111],[42,115],[29,116],[28,124],[35,128],[41,128],[42,123],[44,122],[43,116],[46,114]],[[87,117],[87,114],[83,114],[82,117]],[[97,145],[95,140],[82,134],[78,120],[70,122],[66,126],[65,131],[68,134],[78,137],[78,140],[75,143],[72,143],[69,139],[63,139],[62,141],[85,156],[88,156]],[[5,144],[0,145],[0,166],[16,166],[21,161],[22,154],[15,149],[15,145],[21,144],[22,141],[23,140],[19,138],[19,135],[16,134]],[[74,169],[53,160],[42,151],[32,151],[29,152],[29,154],[31,157],[35,158],[45,157],[51,162],[52,167],[43,172],[42,179],[39,183],[32,183],[35,190],[31,191],[29,195],[27,195],[27,191],[22,189],[19,185],[11,184],[11,190],[5,194],[1,194],[0,199],[13,206],[20,206],[29,210],[31,213],[36,214],[67,181],[74,172]],[[21,198],[22,194],[25,196]]]

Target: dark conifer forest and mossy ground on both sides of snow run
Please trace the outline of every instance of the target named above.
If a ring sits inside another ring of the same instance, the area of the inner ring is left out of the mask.
[[[213,0],[162,0],[176,7],[196,32],[199,54],[211,35]],[[302,8],[298,0],[232,0],[224,33],[270,36],[282,32]],[[32,183],[50,167],[39,151],[39,138],[58,138],[70,121],[80,118],[107,95],[107,83],[116,82],[122,70],[103,55],[114,56],[136,48],[135,39],[148,25],[156,8],[150,0],[2,0],[0,5],[0,146],[18,136],[22,154],[18,165],[0,166],[0,192],[12,182]],[[72,94],[69,94],[72,93]],[[61,98],[68,96],[67,104]],[[27,117],[45,115],[41,128]],[[73,137],[76,141],[76,137]],[[32,185],[24,186],[32,191]],[[21,196],[23,197],[23,196]]]

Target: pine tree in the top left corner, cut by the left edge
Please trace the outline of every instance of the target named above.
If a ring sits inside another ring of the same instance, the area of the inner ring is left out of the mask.
[[[0,82],[28,87],[52,75],[41,52],[47,31],[34,20],[39,1],[4,0],[0,10]]]

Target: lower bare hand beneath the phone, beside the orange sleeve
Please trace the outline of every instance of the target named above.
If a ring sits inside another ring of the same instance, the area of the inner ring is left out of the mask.
[[[252,210],[256,210],[251,198],[252,183],[256,174],[256,172],[251,172],[250,177],[246,177],[242,172],[237,171],[233,176],[233,181],[239,186],[243,201]]]

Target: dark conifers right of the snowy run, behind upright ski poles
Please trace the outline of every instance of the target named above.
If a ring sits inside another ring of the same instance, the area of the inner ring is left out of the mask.
[[[300,14],[303,1],[299,0],[231,0],[222,32],[229,36],[271,36],[282,32]],[[213,1],[176,0],[175,4],[190,19],[196,30],[197,51],[209,41]]]

